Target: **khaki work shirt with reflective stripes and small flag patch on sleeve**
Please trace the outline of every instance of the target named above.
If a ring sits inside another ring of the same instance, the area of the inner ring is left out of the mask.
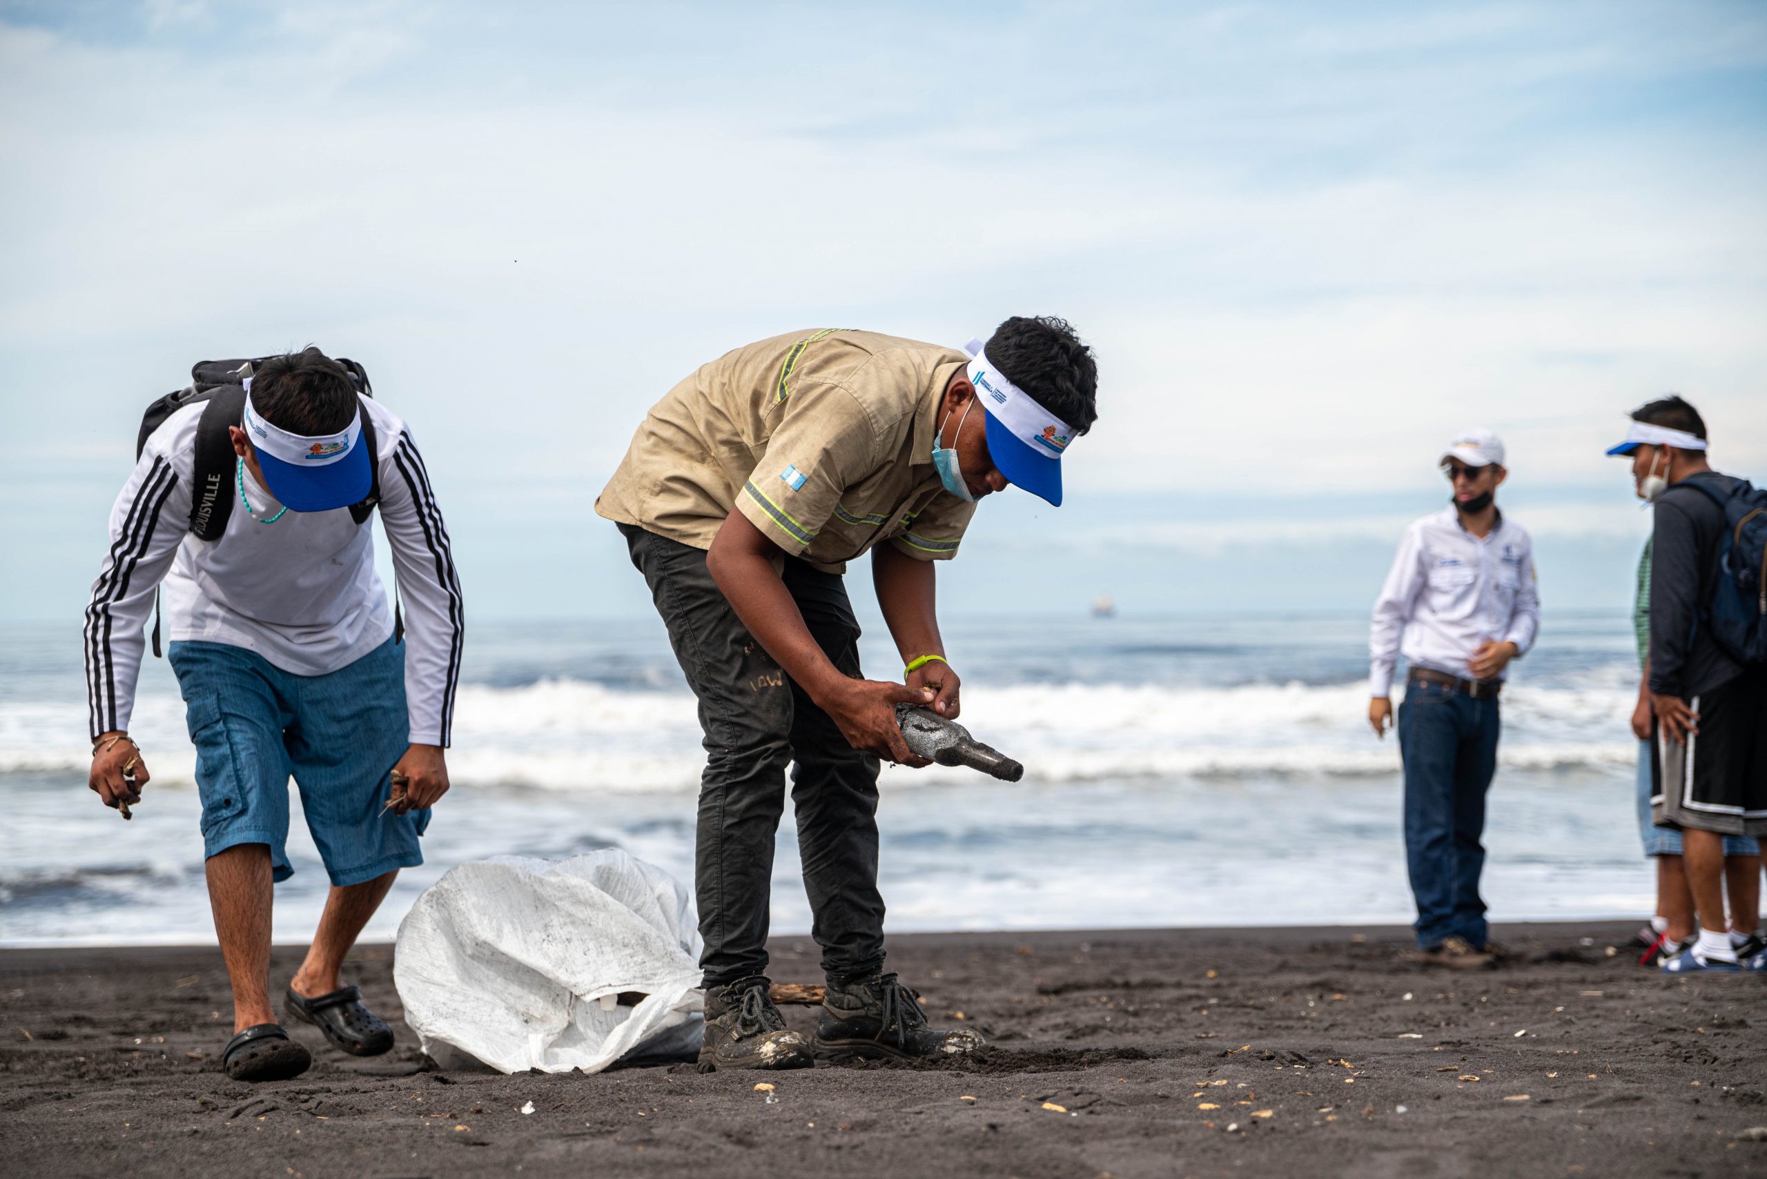
[[[829,572],[880,540],[947,559],[975,505],[938,482],[933,418],[967,360],[846,328],[739,348],[652,406],[595,512],[710,549],[735,508]]]

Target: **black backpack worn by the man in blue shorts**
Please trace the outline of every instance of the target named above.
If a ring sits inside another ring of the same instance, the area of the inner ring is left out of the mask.
[[[155,399],[141,415],[141,432],[134,439],[134,457],[141,459],[148,436],[157,431],[166,418],[196,402],[203,406],[201,420],[196,424],[194,477],[191,485],[191,521],[189,531],[198,540],[217,540],[226,531],[228,517],[233,515],[233,439],[230,425],[239,425],[246,413],[246,378],[269,357],[256,360],[200,360],[191,365],[191,383]],[[375,388],[368,383],[368,369],[355,360],[337,358],[355,392],[373,397]],[[369,455],[380,455],[375,438],[375,420],[362,415],[362,443]],[[380,503],[380,462],[369,462],[368,496],[350,505],[350,519],[366,524]],[[394,642],[405,637],[405,620],[398,604],[392,607]],[[159,595],[154,595],[154,655],[159,655]]]

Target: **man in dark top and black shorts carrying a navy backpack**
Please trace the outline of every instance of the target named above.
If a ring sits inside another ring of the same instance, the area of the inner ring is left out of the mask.
[[[1626,441],[1638,494],[1654,505],[1650,531],[1650,637],[1645,680],[1650,690],[1652,821],[1680,831],[1682,868],[1700,921],[1691,946],[1663,971],[1767,971],[1767,946],[1755,934],[1760,860],[1728,858],[1730,921],[1725,921],[1725,837],[1767,835],[1767,665],[1728,650],[1714,625],[1725,574],[1719,552],[1756,535],[1760,492],[1719,475],[1705,459],[1705,420],[1680,397],[1661,397],[1633,411]],[[1735,522],[1726,519],[1726,507]],[[1756,542],[1758,545],[1758,542]],[[1746,574],[1760,549],[1732,549]],[[1755,616],[1755,582],[1744,612]],[[1758,616],[1756,616],[1758,618]],[[1760,621],[1755,627],[1762,627]],[[1732,851],[1744,849],[1732,844]]]

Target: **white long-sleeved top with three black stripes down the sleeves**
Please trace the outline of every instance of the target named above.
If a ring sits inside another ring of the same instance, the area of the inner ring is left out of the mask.
[[[147,439],[117,496],[110,551],[92,582],[85,655],[92,736],[129,727],[145,648],[143,625],[164,581],[173,641],[200,639],[256,651],[297,676],[353,664],[392,635],[387,591],[375,572],[373,517],[348,508],[288,512],[246,469],[228,471],[233,514],[216,540],[189,535],[196,424],[203,406],[173,413]],[[413,745],[447,745],[459,681],[463,604],[442,510],[405,422],[369,397],[380,454],[376,508],[405,604],[405,697]]]

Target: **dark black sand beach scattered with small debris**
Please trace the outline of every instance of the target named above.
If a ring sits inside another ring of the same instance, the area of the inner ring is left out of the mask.
[[[0,1172],[1767,1174],[1746,1133],[1767,1126],[1767,980],[1642,971],[1608,951],[1629,932],[1500,928],[1516,960],[1472,974],[1405,960],[1398,928],[905,935],[891,965],[981,1027],[981,1055],[500,1077],[433,1071],[399,1024],[378,1061],[299,1031],[315,1068],[256,1087],[217,1066],[214,950],[5,950]],[[346,969],[389,1022],[391,953]],[[297,958],[276,951],[277,987]],[[779,939],[774,978],[820,981],[815,962]]]

